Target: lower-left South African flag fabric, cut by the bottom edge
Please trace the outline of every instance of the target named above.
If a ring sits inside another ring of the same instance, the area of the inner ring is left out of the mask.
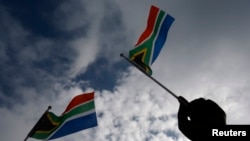
[[[94,92],[74,97],[61,116],[45,112],[29,137],[51,140],[97,126]]]

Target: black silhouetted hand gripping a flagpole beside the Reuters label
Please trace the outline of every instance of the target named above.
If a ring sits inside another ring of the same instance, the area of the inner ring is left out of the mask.
[[[192,141],[204,141],[214,127],[226,125],[226,114],[212,100],[204,98],[188,102],[178,97],[178,126],[181,132]]]

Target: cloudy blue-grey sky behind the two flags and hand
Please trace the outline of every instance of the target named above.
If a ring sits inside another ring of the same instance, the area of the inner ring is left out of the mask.
[[[188,141],[179,103],[120,58],[155,5],[175,18],[153,77],[250,124],[248,0],[1,0],[0,136],[23,140],[49,105],[95,91],[98,126],[55,141]],[[29,139],[36,141],[35,139]]]

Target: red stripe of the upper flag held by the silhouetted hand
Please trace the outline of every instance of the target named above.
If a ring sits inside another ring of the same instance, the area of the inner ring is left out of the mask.
[[[155,26],[155,20],[157,18],[159,12],[159,8],[155,7],[155,6],[151,6],[150,8],[150,12],[149,12],[149,16],[148,16],[148,23],[147,23],[147,27],[145,29],[145,31],[141,34],[137,44],[139,45],[142,41],[144,41],[145,39],[147,39],[150,34],[152,33],[154,26]]]

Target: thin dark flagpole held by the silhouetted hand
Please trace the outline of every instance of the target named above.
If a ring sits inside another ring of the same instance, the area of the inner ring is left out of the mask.
[[[161,84],[158,80],[156,80],[154,77],[150,76],[147,72],[144,71],[144,69],[139,66],[138,64],[136,64],[134,61],[131,61],[128,57],[126,57],[123,53],[120,54],[121,57],[123,57],[125,60],[127,60],[129,63],[131,63],[132,65],[134,65],[137,69],[139,69],[142,73],[144,73],[148,78],[150,78],[151,80],[153,80],[155,83],[157,83],[158,85],[160,85],[164,90],[166,90],[169,94],[171,94],[174,98],[176,98],[179,102],[183,103],[183,104],[188,104],[187,102],[183,101],[182,99],[180,99],[175,93],[173,93],[170,89],[168,89],[167,87],[165,87],[163,84]]]

